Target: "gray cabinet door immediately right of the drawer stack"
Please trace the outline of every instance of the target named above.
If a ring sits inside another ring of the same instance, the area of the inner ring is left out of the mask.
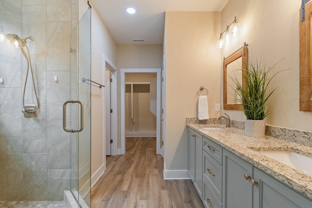
[[[223,188],[224,208],[252,208],[253,186],[244,174],[252,176],[253,166],[233,153],[223,150]]]

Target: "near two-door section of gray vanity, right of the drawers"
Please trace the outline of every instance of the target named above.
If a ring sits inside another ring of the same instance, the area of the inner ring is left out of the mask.
[[[224,208],[312,208],[312,201],[223,150]]]

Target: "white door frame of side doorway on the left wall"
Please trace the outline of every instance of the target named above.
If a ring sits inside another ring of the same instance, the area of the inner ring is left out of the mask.
[[[107,67],[111,73],[112,73],[112,84],[111,84],[111,109],[113,110],[112,113],[112,117],[111,117],[111,138],[113,140],[112,143],[112,151],[111,151],[111,155],[117,155],[118,154],[118,134],[117,134],[117,77],[118,77],[118,71],[117,71],[117,67],[115,66],[115,64],[108,58],[106,57],[104,54],[102,55],[102,59],[103,59],[103,82],[105,82],[105,68]],[[103,104],[105,106],[105,96],[103,96]],[[105,108],[104,108],[105,109]],[[108,113],[108,112],[105,112]],[[106,125],[106,114],[104,113],[103,115],[103,144],[106,146],[106,138],[105,138],[105,125]],[[103,146],[103,159],[106,158],[106,147]]]

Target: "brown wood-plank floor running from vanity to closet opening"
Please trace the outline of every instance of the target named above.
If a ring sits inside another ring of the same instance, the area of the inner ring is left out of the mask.
[[[126,154],[106,157],[91,208],[204,208],[191,180],[164,180],[155,137],[127,137]]]

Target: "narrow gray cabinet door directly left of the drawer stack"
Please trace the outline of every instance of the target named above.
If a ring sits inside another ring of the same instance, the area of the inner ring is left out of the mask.
[[[203,175],[202,175],[202,166],[203,166],[203,136],[197,132],[195,134],[195,183],[194,186],[200,196],[203,186]]]

